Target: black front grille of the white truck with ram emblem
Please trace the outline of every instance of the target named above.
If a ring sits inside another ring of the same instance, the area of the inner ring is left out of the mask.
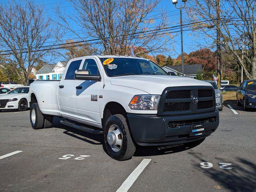
[[[166,88],[160,98],[158,115],[178,115],[215,110],[212,86],[182,86]]]

